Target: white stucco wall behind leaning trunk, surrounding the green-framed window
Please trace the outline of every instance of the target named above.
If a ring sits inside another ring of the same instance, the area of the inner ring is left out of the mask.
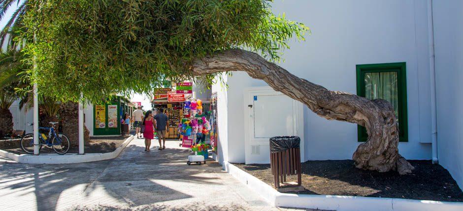
[[[399,152],[407,159],[431,158],[430,143],[422,143],[431,134],[426,1],[278,0],[272,10],[312,30],[305,42],[290,43],[279,65],[330,90],[357,93],[357,64],[406,62],[409,141],[399,143]],[[227,82],[228,141],[236,144],[229,144],[229,161],[243,162],[243,89],[267,84],[236,72]],[[355,124],[326,120],[307,107],[303,113],[306,159],[352,158],[359,145]]]

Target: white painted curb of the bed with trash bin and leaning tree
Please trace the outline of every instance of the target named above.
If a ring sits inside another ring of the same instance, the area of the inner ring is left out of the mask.
[[[224,169],[276,207],[333,211],[463,211],[462,202],[280,193],[229,162]]]

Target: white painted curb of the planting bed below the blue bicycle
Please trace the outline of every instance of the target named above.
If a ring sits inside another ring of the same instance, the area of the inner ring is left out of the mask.
[[[79,163],[79,162],[93,162],[105,159],[112,159],[119,156],[124,148],[132,141],[133,135],[129,136],[116,150],[110,153],[88,153],[84,155],[78,154],[44,154],[39,156],[24,154],[17,155],[0,150],[0,156],[12,159],[20,163],[34,163],[34,164],[65,164],[65,163]]]

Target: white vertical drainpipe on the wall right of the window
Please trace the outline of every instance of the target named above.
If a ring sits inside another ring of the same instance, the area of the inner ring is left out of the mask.
[[[436,109],[436,72],[434,56],[434,24],[432,20],[432,0],[428,0],[428,47],[430,64],[430,84],[431,84],[431,144],[432,144],[432,163],[439,162],[437,156],[437,109]]]

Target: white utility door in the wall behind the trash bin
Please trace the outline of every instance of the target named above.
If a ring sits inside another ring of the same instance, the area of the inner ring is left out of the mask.
[[[280,135],[301,138],[303,160],[302,104],[269,87],[248,90],[245,97],[246,163],[269,163],[269,139]]]

